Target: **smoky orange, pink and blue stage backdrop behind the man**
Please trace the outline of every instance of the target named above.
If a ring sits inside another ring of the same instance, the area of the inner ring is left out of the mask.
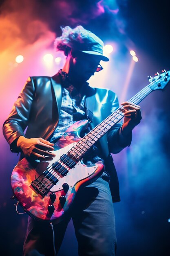
[[[4,0],[0,24],[1,126],[28,75],[54,74],[53,69],[38,67],[38,57],[41,49],[52,49],[53,39],[61,35],[61,25],[82,25],[104,42],[117,45],[110,57],[113,69],[103,86],[115,90],[119,97],[130,66],[130,49],[135,49],[139,62],[126,97],[147,85],[148,75],[170,70],[168,0]],[[27,59],[23,66],[15,67],[14,56],[20,52]],[[141,103],[143,120],[134,129],[130,148],[114,156],[121,191],[121,202],[114,204],[117,256],[170,255],[169,99],[167,86]],[[27,216],[17,215],[10,199],[10,176],[18,156],[10,152],[2,132],[0,142],[1,255],[20,256]],[[59,253],[65,255],[77,255],[72,223]]]

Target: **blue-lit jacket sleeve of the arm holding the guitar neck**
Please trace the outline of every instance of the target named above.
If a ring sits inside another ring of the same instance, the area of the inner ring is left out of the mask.
[[[115,94],[111,112],[113,113],[115,110],[117,110],[117,108],[119,108],[119,101],[117,95]],[[121,127],[122,121],[115,124],[115,126],[113,126],[113,128],[107,132],[107,141],[110,153],[119,153],[122,149],[124,149],[126,146],[130,146],[131,144],[132,132],[128,136],[124,136]]]

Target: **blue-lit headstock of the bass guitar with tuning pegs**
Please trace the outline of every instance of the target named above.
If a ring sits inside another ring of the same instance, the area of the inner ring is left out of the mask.
[[[148,87],[151,90],[163,90],[170,81],[170,71],[162,70],[162,72],[162,74],[157,72],[157,76],[154,77],[148,76],[148,80],[150,81]]]

